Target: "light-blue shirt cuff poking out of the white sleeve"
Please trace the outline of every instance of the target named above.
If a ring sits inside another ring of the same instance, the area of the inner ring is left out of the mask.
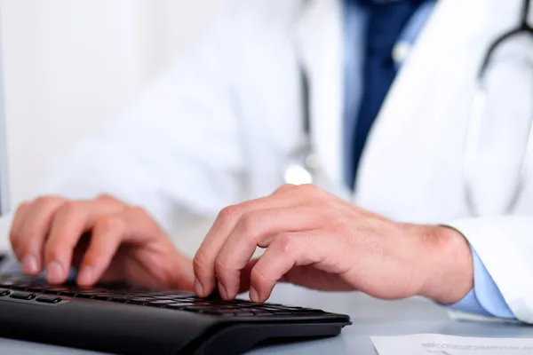
[[[503,319],[516,319],[509,306],[505,303],[496,282],[492,280],[480,256],[472,249],[473,256],[473,289],[457,304],[449,306],[457,311],[480,314]]]

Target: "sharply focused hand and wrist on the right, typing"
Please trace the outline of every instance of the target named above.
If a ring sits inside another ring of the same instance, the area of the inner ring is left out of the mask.
[[[256,248],[263,256],[251,260]],[[251,284],[265,302],[282,280],[327,291],[362,291],[383,299],[428,296],[443,304],[473,288],[472,254],[456,231],[395,223],[314,185],[223,209],[198,250],[195,291],[217,287],[233,299]]]

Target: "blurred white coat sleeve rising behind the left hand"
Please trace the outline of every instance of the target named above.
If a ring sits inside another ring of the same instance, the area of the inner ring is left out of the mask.
[[[228,9],[129,109],[64,154],[35,196],[109,193],[145,207],[167,230],[240,201],[236,16]]]

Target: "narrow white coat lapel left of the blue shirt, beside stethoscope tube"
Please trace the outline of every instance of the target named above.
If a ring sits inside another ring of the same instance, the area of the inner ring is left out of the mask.
[[[309,77],[312,141],[330,183],[342,184],[342,4],[313,0],[295,28],[296,48]]]

